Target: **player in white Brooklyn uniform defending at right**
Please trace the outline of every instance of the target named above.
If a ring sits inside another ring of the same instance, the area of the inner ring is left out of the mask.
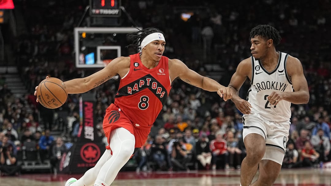
[[[309,100],[307,80],[299,59],[275,46],[279,32],[272,26],[259,25],[251,30],[252,56],[241,61],[229,87],[231,100],[244,114],[243,138],[247,156],[241,164],[242,186],[269,186],[278,177],[290,129],[291,103]],[[246,78],[251,81],[247,100],[238,96]],[[259,177],[252,183],[259,167]]]

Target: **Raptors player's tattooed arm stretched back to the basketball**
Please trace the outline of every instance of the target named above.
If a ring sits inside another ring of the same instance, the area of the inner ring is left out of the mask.
[[[127,63],[128,61],[128,63]],[[110,62],[102,70],[87,76],[85,78],[77,78],[64,82],[68,93],[85,93],[99,85],[105,83],[110,78],[118,74],[119,69],[129,67],[130,57],[118,57]]]

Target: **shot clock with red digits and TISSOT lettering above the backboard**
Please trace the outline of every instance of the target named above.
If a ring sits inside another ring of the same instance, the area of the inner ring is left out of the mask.
[[[90,0],[90,16],[120,17],[121,0]]]

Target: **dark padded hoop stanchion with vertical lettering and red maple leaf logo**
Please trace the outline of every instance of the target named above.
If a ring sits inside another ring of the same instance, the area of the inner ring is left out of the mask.
[[[79,98],[79,130],[77,142],[63,154],[59,171],[62,173],[84,173],[95,166],[106,146],[102,143],[102,136],[98,135],[97,122],[94,117],[94,96],[83,94]]]

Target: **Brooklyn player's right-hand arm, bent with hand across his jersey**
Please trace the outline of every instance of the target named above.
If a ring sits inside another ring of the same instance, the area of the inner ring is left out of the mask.
[[[308,103],[308,84],[300,60],[295,57],[288,56],[286,71],[292,81],[294,92],[272,92],[267,97],[270,104],[277,105],[281,100],[286,100],[294,104]]]

